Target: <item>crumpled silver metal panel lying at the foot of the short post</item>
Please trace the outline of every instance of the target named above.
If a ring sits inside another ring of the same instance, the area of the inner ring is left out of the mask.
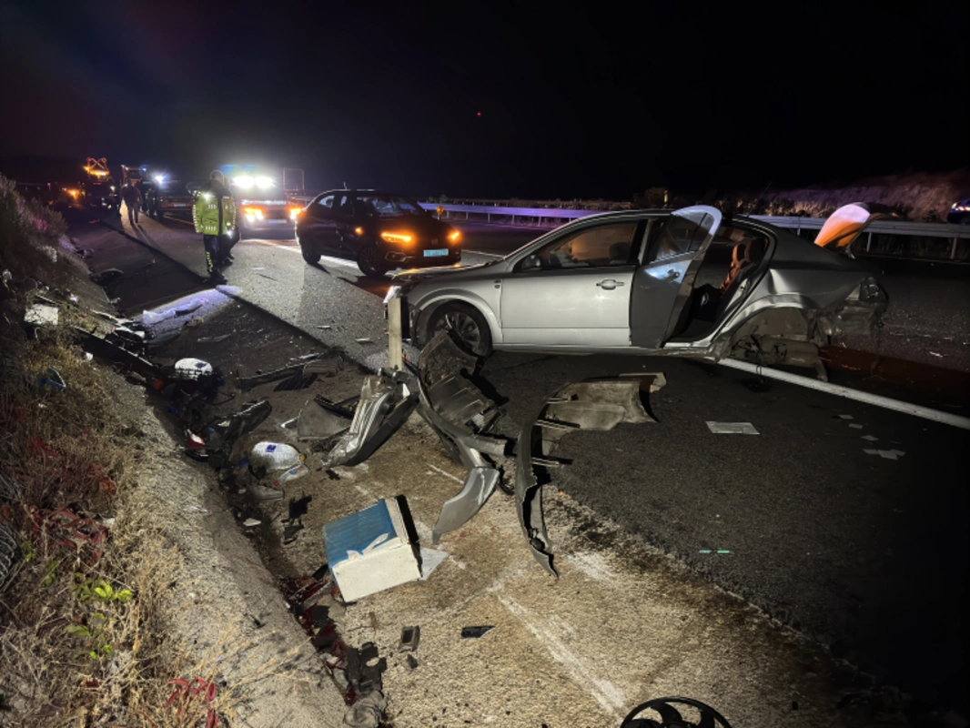
[[[387,442],[417,406],[413,381],[401,374],[365,378],[350,429],[324,457],[324,466],[357,465]]]

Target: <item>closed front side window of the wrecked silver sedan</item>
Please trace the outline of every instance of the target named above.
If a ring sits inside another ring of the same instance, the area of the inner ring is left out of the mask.
[[[529,255],[518,270],[555,271],[564,268],[604,268],[630,264],[637,222],[580,230]]]

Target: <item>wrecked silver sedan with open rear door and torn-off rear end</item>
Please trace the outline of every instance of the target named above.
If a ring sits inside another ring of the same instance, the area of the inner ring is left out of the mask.
[[[849,248],[823,248],[705,206],[614,212],[573,221],[489,263],[398,274],[388,297],[402,298],[405,337],[417,346],[460,321],[478,355],[720,359],[752,340],[758,348],[759,337],[822,346],[872,332],[887,298],[876,271]]]

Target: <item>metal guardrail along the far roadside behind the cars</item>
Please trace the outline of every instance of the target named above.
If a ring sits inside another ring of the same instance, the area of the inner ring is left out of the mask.
[[[471,219],[469,215],[483,215],[489,222],[492,217],[510,217],[512,224],[515,224],[516,217],[523,221],[526,219],[537,219],[539,224],[545,219],[552,220],[574,220],[589,215],[601,215],[600,210],[560,210],[557,208],[512,208],[500,207],[498,205],[441,205],[436,202],[419,203],[425,210],[435,211],[440,207],[448,215],[465,215],[465,219]],[[773,215],[748,215],[752,219],[761,220],[776,227],[794,230],[795,234],[802,230],[821,230],[825,223],[824,217],[783,217]],[[479,217],[480,219],[480,217]],[[970,240],[970,225],[954,225],[949,222],[908,222],[906,220],[883,219],[874,220],[866,228],[868,233],[865,239],[865,250],[869,251],[872,244],[873,235],[899,235],[913,236],[921,238],[945,238],[952,241],[950,248],[950,259],[956,258],[956,247],[959,241]],[[859,244],[857,244],[859,245]]]

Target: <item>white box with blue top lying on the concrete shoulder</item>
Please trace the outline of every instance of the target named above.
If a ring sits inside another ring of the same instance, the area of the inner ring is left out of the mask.
[[[345,602],[421,579],[417,547],[394,498],[328,523],[323,543]]]

